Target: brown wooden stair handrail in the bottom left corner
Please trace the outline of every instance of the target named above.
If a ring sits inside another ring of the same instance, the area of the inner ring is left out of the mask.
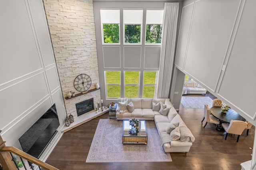
[[[36,164],[42,168],[46,168],[47,170],[59,170],[59,169],[39,160],[39,159],[35,158],[34,156],[31,156],[30,154],[27,154],[26,152],[23,152],[22,150],[19,150],[15,147],[4,146],[0,149],[0,152],[12,152],[12,153],[16,154],[17,156],[20,156],[30,162],[33,162],[34,164]]]

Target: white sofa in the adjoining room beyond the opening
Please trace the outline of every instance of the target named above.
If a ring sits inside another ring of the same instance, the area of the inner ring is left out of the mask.
[[[207,90],[194,80],[185,80],[182,94],[206,94]]]

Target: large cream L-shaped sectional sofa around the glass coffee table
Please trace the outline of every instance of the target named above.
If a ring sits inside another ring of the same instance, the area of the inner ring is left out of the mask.
[[[165,152],[188,152],[195,138],[170,99],[119,98],[116,119],[154,120]],[[180,137],[179,137],[180,135]],[[172,140],[171,140],[172,138]]]

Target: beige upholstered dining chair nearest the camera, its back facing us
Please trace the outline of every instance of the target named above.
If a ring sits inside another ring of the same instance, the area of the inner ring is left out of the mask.
[[[238,142],[240,135],[243,133],[244,129],[247,127],[248,123],[246,121],[231,120],[230,123],[222,123],[223,129],[226,131],[225,140],[227,140],[228,133],[238,135],[236,142]]]

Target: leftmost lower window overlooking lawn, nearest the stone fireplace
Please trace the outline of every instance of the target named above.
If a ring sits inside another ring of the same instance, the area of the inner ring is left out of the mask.
[[[105,71],[106,97],[120,98],[120,71]]]

